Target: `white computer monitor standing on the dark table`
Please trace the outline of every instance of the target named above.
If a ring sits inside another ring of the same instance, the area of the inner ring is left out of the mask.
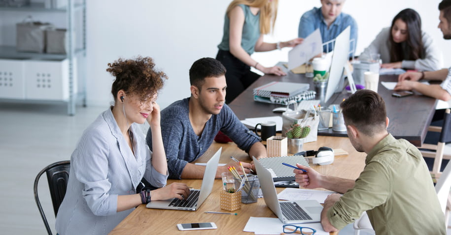
[[[335,39],[334,52],[332,55],[332,62],[330,64],[329,81],[327,82],[326,94],[324,95],[324,103],[336,92],[344,88],[343,70],[347,68],[347,61],[349,59],[349,34],[350,26],[343,30]],[[347,72],[347,76],[351,73]],[[351,87],[353,85],[352,78],[349,79]]]

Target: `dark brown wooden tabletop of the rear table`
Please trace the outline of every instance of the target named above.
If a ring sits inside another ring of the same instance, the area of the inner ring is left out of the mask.
[[[403,98],[392,97],[391,94],[393,93],[393,90],[386,89],[382,86],[381,81],[396,82],[397,78],[397,75],[382,75],[379,79],[378,93],[385,101],[387,116],[390,119],[388,131],[395,138],[406,139],[415,146],[419,147],[423,143],[426,136],[427,128],[435,112],[437,100],[417,93]],[[253,100],[253,88],[263,86],[273,81],[309,83],[310,89],[314,89],[312,78],[306,78],[304,74],[293,74],[290,71],[286,76],[282,77],[264,75],[229,104],[230,108],[235,112],[240,120],[245,118],[281,116],[280,113],[274,113],[272,110],[283,106],[256,102]],[[326,106],[331,104],[338,105],[349,95],[350,93],[346,90],[335,93],[326,103]],[[329,128],[329,130],[319,131],[318,135],[346,137],[347,133],[335,132],[332,131],[332,128]]]

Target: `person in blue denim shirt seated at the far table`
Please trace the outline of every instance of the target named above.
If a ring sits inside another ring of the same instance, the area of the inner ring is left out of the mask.
[[[322,43],[335,39],[348,26],[351,27],[349,39],[354,39],[350,43],[350,49],[355,49],[357,44],[357,22],[352,16],[342,13],[345,0],[321,0],[321,7],[313,7],[307,11],[299,21],[298,37],[306,38],[314,30],[321,32]],[[334,44],[324,45],[323,52],[328,53],[334,50]]]

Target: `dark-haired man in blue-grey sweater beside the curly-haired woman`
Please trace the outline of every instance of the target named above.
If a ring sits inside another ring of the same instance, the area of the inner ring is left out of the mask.
[[[169,177],[203,178],[205,166],[191,163],[202,156],[222,131],[238,147],[256,158],[266,157],[266,148],[260,138],[246,128],[225,104],[225,67],[216,59],[202,58],[189,70],[191,97],[175,101],[161,111],[161,131],[168,159]],[[151,130],[147,145],[152,146]],[[150,149],[152,150],[152,149]],[[229,166],[243,174],[239,163],[219,166],[216,178],[228,172]],[[243,163],[245,173],[253,166]]]

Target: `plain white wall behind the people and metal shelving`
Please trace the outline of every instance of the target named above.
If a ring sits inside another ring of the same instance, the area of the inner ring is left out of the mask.
[[[105,71],[107,63],[119,57],[132,58],[137,55],[154,58],[157,67],[169,76],[158,100],[162,108],[189,96],[188,70],[196,59],[216,56],[229,2],[88,0],[88,105],[107,106],[111,101],[113,78]],[[451,55],[446,52],[451,41],[443,40],[441,31],[437,29],[439,2],[347,0],[344,12],[351,14],[359,26],[357,55],[382,28],[390,25],[400,10],[410,7],[421,15],[423,30],[444,48],[444,66],[450,66]],[[275,32],[266,35],[265,41],[277,42],[297,37],[301,15],[319,5],[319,0],[279,0]],[[48,21],[48,17],[41,13],[34,14],[37,20]],[[22,19],[23,16],[16,16],[16,13],[0,12],[0,45],[14,44],[14,24]],[[61,24],[60,20],[52,23]],[[12,33],[5,34],[5,31],[11,30]],[[252,57],[265,66],[271,66],[278,61],[286,61],[288,50],[254,53]]]

